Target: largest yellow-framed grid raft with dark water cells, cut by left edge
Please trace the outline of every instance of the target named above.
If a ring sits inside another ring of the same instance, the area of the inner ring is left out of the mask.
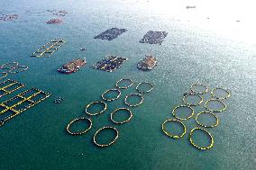
[[[13,119],[16,115],[30,109],[37,103],[48,98],[50,94],[36,88],[31,88],[21,94],[17,94],[4,103],[0,103],[0,127]]]

